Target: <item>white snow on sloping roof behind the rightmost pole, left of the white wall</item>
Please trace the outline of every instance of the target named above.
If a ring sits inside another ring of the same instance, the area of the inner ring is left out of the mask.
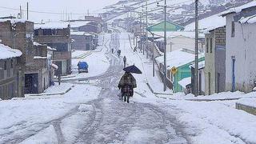
[[[194,24],[195,22],[185,26],[185,30],[187,31],[195,30]],[[210,17],[199,20],[198,26],[199,26],[199,30],[214,30],[218,27],[226,26],[226,18],[219,16],[219,14],[214,14]]]

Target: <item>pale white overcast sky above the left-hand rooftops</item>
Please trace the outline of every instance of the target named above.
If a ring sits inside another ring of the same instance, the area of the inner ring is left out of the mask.
[[[0,17],[10,16],[10,14],[18,14],[18,10],[9,10],[6,8],[26,10],[26,2],[29,2],[29,10],[51,13],[65,14],[40,14],[29,12],[31,21],[57,21],[59,19],[68,18],[66,13],[73,13],[72,18],[82,17],[81,13],[98,14],[102,12],[102,7],[109,6],[118,2],[118,0],[0,0]],[[6,7],[6,8],[4,8]],[[26,14],[24,14],[26,16]],[[71,18],[71,16],[70,16]]]

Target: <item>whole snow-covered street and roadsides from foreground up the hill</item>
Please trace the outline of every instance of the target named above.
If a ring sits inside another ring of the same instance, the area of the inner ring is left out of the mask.
[[[151,77],[150,59],[132,50],[129,33],[102,34],[99,43],[85,57],[88,52],[73,52],[74,73],[62,78],[61,86],[56,83],[40,96],[0,102],[0,143],[256,142],[256,118],[235,110],[237,100],[194,102],[183,94],[153,94],[148,84],[158,91],[162,82]],[[122,50],[120,58],[118,49]],[[118,98],[123,56],[128,66],[142,70],[134,74],[138,87],[130,103]],[[88,74],[76,71],[80,60],[89,63]],[[63,90],[67,91],[60,94]],[[238,92],[226,95],[246,97]]]

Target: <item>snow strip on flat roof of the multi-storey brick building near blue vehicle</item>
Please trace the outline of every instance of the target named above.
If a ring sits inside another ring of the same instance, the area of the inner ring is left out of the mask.
[[[46,23],[35,23],[34,29],[66,29],[69,26],[69,22],[46,22]]]

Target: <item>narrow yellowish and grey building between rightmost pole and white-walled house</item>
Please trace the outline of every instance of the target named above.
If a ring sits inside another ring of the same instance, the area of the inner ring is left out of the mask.
[[[225,91],[226,27],[221,26],[206,34],[206,94]]]

